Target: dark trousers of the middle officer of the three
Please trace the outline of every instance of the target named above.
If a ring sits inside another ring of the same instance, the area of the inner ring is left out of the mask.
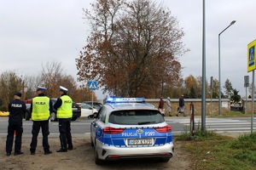
[[[44,152],[49,152],[49,143],[48,143],[48,135],[49,135],[49,121],[33,121],[32,125],[32,141],[30,144],[30,151],[35,152],[38,145],[38,133],[42,128],[43,134],[43,147]]]

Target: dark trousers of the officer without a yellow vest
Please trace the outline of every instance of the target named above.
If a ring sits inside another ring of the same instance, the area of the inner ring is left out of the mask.
[[[6,152],[11,152],[14,143],[15,136],[15,152],[20,152],[21,149],[21,138],[23,133],[22,122],[9,122],[8,134],[6,139]]]

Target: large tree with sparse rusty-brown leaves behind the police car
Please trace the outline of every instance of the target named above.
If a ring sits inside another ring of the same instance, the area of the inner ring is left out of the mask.
[[[150,98],[180,79],[177,55],[187,49],[168,9],[150,0],[96,0],[84,18],[92,31],[76,59],[79,81],[96,79],[104,92]]]

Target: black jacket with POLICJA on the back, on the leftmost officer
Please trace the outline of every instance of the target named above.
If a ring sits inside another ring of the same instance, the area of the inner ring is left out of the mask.
[[[26,105],[20,99],[13,99],[9,102],[9,122],[22,122],[26,114]]]

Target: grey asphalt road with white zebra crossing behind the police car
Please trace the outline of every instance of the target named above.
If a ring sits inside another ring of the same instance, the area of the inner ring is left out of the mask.
[[[178,134],[190,128],[189,116],[166,116],[166,122],[171,125],[172,133]],[[73,135],[89,135],[90,122],[92,119],[79,118],[72,122],[72,134]],[[254,118],[253,125],[255,125],[256,119]],[[0,136],[7,135],[8,117],[0,117]],[[195,128],[201,127],[201,117],[195,117]],[[207,130],[216,131],[217,133],[236,133],[236,132],[250,132],[251,131],[251,118],[250,117],[237,117],[237,118],[207,118],[206,119]],[[31,137],[32,121],[23,122],[23,137]],[[253,131],[256,127],[253,126]],[[50,136],[58,136],[58,122],[49,123]]]

